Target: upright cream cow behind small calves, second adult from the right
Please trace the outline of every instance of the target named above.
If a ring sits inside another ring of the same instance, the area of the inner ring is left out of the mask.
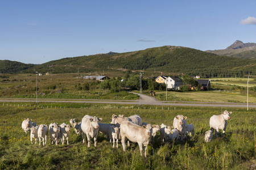
[[[177,115],[174,118],[174,129],[179,130],[180,135],[180,141],[183,141],[185,138],[185,135],[187,133],[187,117],[184,117],[183,115]]]

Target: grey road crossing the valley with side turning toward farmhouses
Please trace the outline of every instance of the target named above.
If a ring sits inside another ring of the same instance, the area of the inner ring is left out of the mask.
[[[133,94],[137,94],[133,92]],[[139,95],[139,94],[137,94]],[[0,102],[36,102],[36,99],[0,99]],[[109,103],[109,104],[134,104],[134,105],[170,105],[170,106],[190,106],[190,107],[238,107],[247,108],[246,103],[213,103],[213,102],[175,102],[159,101],[155,97],[141,95],[141,100],[96,100],[96,99],[38,99],[38,102],[48,103]],[[249,103],[249,108],[256,108],[256,103]]]

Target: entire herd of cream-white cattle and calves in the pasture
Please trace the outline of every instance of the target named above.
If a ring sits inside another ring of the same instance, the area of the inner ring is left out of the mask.
[[[232,112],[224,111],[221,112],[220,115],[210,117],[210,130],[205,132],[205,142],[212,141],[212,133],[214,130],[216,130],[215,136],[218,135],[219,130],[222,130],[224,135],[227,126],[226,121],[230,119],[230,114],[232,114]],[[48,127],[44,124],[36,125],[35,122],[31,122],[32,120],[30,120],[30,118],[24,118],[22,129],[26,133],[30,131],[31,144],[33,144],[32,141],[35,139],[35,143],[39,140],[39,145],[41,145],[42,142],[43,146],[46,145],[48,133],[52,145],[54,143],[57,145],[59,141],[64,145],[65,139],[68,145],[69,133],[72,127],[75,129],[77,135],[82,134],[82,143],[85,143],[86,135],[88,147],[90,147],[90,138],[94,139],[94,146],[96,147],[97,135],[98,132],[100,132],[107,135],[110,143],[113,142],[113,148],[115,141],[118,147],[118,139],[121,138],[123,151],[126,150],[126,141],[128,147],[130,146],[129,141],[137,142],[141,155],[142,147],[145,147],[144,155],[146,156],[147,145],[150,140],[155,137],[157,131],[160,132],[160,138],[163,142],[173,142],[174,140],[183,141],[188,133],[193,137],[195,132],[194,126],[193,124],[187,124],[186,119],[187,117],[183,115],[177,115],[174,117],[173,126],[166,126],[164,124],[159,126],[142,122],[142,118],[138,114],[130,117],[123,117],[123,115],[116,116],[113,114],[110,124],[101,124],[99,121],[101,121],[102,118],[85,115],[81,122],[76,122],[76,119],[72,118],[69,121],[71,125],[65,123],[57,125],[56,123],[51,123]]]

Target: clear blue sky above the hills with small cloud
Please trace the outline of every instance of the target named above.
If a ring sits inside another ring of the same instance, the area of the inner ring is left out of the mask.
[[[0,59],[45,63],[164,45],[256,42],[256,1],[0,1]]]

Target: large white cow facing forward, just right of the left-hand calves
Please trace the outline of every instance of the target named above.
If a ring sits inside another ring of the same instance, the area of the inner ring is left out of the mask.
[[[90,137],[94,138],[94,146],[97,145],[97,136],[98,129],[100,126],[98,125],[98,121],[101,121],[102,118],[98,118],[96,116],[92,117],[89,115],[85,115],[81,121],[81,129],[82,129],[82,143],[85,142],[85,134],[88,140],[88,147],[90,147]]]

